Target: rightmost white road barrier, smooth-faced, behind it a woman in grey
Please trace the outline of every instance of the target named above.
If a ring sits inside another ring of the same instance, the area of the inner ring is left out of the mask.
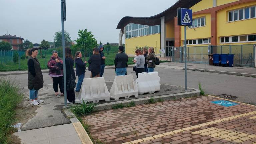
[[[138,73],[135,83],[138,86],[139,95],[160,91],[160,77],[158,72]]]

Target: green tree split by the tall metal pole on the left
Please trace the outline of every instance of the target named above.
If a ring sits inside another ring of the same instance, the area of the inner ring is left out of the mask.
[[[64,31],[64,38],[65,38],[65,46],[70,46],[72,43],[72,40],[69,36],[69,33],[66,31]],[[55,42],[56,48],[62,46],[62,31],[55,32],[54,42]]]

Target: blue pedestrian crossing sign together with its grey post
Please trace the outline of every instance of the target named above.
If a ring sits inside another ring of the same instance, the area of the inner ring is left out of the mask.
[[[192,26],[192,9],[177,9],[178,25],[184,26],[185,90],[187,90],[187,26]]]

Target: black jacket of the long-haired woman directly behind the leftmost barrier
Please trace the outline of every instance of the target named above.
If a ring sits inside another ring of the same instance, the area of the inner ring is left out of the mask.
[[[95,73],[100,73],[100,59],[100,55],[92,55],[88,60],[88,63],[90,64],[88,70]]]

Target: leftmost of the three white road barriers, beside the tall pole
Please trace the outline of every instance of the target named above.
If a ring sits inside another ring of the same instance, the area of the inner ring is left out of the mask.
[[[104,77],[85,78],[75,102],[81,103],[84,100],[98,103],[100,100],[109,101],[109,96]]]

